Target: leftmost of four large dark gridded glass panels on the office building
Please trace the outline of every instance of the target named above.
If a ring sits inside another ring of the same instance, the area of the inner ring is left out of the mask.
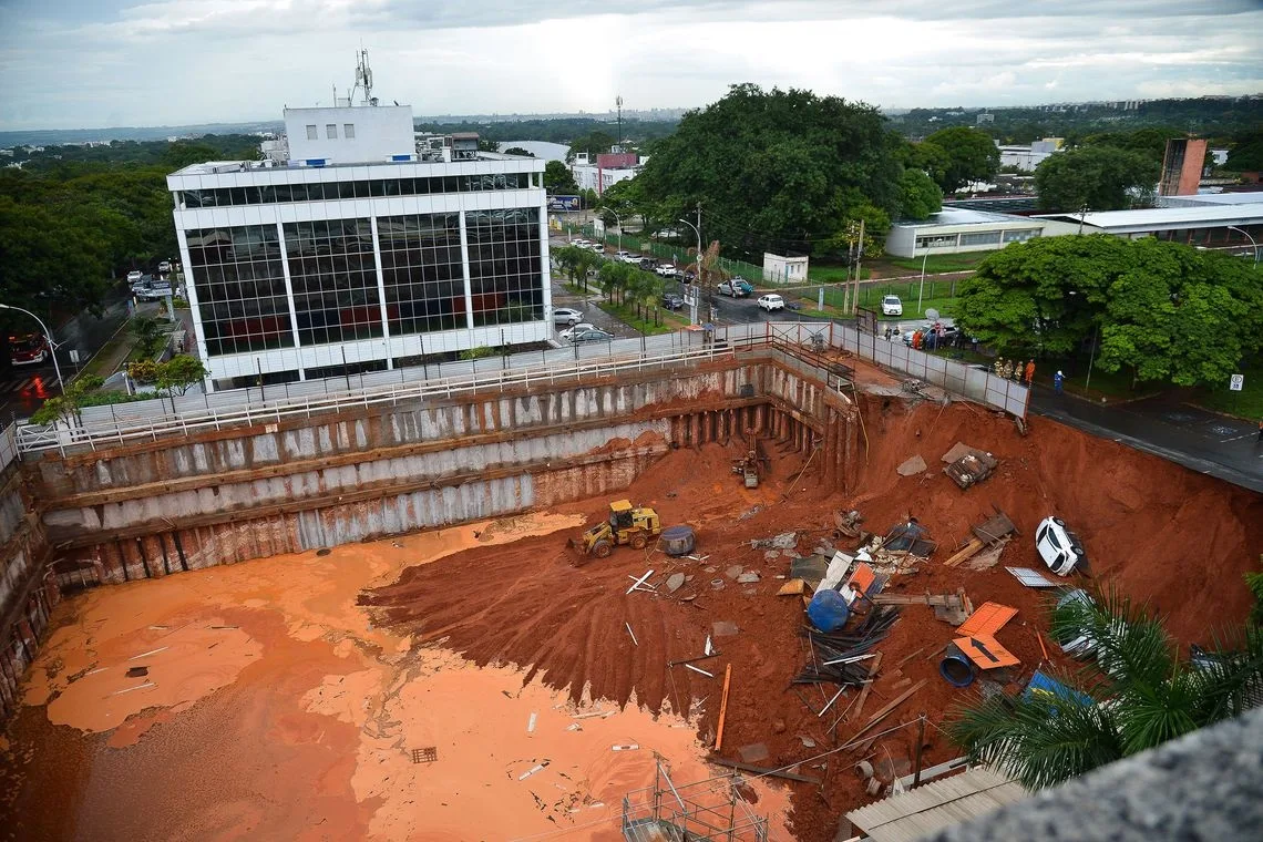
[[[187,239],[206,352],[293,347],[277,226],[201,228]]]

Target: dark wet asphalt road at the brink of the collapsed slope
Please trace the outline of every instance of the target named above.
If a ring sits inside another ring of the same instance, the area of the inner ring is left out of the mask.
[[[1161,456],[1186,468],[1263,492],[1263,443],[1245,420],[1158,395],[1101,405],[1036,386],[1031,410],[1100,438]]]

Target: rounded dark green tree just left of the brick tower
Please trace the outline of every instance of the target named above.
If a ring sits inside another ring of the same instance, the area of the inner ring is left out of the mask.
[[[1100,144],[1060,151],[1034,170],[1039,207],[1047,211],[1119,211],[1148,205],[1161,163],[1143,151]]]

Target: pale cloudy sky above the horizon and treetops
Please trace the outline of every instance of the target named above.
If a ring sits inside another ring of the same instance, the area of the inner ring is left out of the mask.
[[[1263,91],[1263,0],[0,0],[0,130],[279,119],[362,43],[418,116],[696,106],[733,82],[885,107]]]

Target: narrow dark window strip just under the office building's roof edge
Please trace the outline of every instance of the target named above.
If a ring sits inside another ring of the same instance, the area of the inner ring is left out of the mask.
[[[351,126],[354,130],[354,126]],[[350,135],[347,135],[350,136]],[[302,184],[260,184],[181,191],[184,207],[235,207],[284,202],[321,202],[374,196],[431,196],[437,193],[480,193],[515,191],[530,187],[530,173],[490,173],[486,175],[445,175],[434,178],[374,178],[365,182],[311,182]]]

